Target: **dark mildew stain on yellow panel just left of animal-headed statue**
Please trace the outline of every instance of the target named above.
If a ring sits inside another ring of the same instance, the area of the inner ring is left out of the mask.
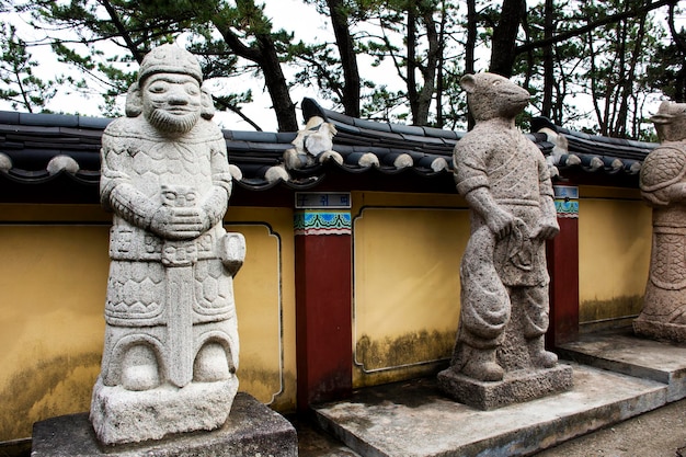
[[[455,331],[420,330],[382,340],[363,334],[355,346],[355,359],[365,370],[398,367],[448,358],[454,344]]]

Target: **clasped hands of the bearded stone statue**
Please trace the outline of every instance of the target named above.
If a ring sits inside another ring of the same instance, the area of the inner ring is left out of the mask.
[[[193,206],[160,206],[152,216],[150,230],[168,240],[192,240],[205,230],[203,213]]]

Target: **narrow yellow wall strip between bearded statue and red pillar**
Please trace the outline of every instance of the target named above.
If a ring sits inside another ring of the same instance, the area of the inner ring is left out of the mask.
[[[253,222],[251,222],[253,221]],[[233,208],[226,228],[245,237],[235,279],[240,390],[279,411],[296,404],[293,210]]]

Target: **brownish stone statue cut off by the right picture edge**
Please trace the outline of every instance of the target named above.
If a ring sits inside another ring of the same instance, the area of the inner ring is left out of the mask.
[[[652,121],[661,145],[643,161],[640,186],[653,207],[653,245],[633,330],[686,342],[686,103],[663,102]]]

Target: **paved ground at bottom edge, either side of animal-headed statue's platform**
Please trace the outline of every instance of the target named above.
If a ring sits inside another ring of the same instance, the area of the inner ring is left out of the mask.
[[[294,421],[300,457],[358,456],[307,422]],[[686,457],[686,400],[540,452],[536,457]]]

